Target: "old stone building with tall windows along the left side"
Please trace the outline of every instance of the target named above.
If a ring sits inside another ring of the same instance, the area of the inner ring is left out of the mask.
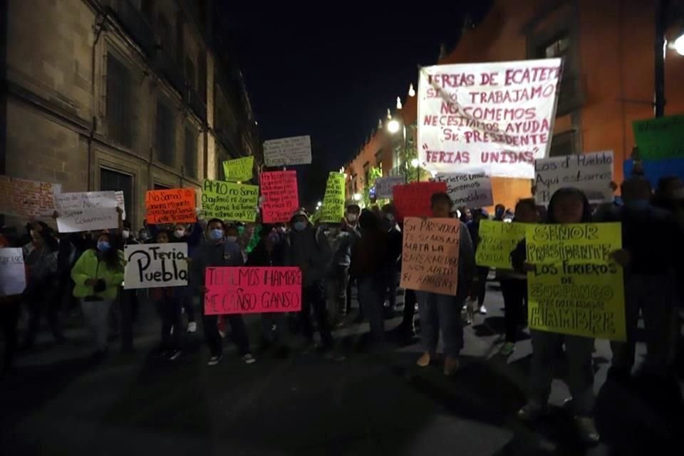
[[[7,0],[0,174],[63,192],[199,187],[261,140],[213,0]],[[6,80],[5,80],[6,78]]]

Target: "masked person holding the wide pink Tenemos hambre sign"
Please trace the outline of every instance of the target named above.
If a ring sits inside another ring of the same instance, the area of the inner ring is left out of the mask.
[[[244,259],[239,245],[226,239],[224,222],[221,219],[211,219],[207,222],[207,240],[200,244],[192,256],[190,263],[190,286],[200,296],[200,302],[204,303],[204,274],[209,266],[242,266]],[[231,314],[226,316],[232,328],[232,340],[242,356],[242,361],[252,364],[257,360],[249,351],[249,339],[247,329],[244,326],[242,315]],[[218,316],[204,315],[204,339],[209,346],[209,366],[216,366],[223,357],[223,339],[219,334]]]

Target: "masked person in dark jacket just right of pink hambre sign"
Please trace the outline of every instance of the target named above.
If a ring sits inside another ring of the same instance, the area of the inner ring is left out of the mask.
[[[306,351],[316,348],[314,345],[314,324],[311,322],[311,310],[321,333],[322,350],[333,353],[333,335],[328,311],[326,309],[325,278],[326,266],[331,259],[330,244],[323,232],[317,230],[309,222],[304,209],[297,210],[290,219],[291,232],[286,239],[284,264],[301,269],[302,295],[299,318],[301,330],[306,338]],[[333,355],[336,356],[336,355]]]

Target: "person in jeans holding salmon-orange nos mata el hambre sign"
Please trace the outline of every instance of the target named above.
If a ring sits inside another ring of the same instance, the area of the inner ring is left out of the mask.
[[[432,217],[449,218],[452,202],[446,193],[435,193],[430,198]],[[470,290],[475,274],[475,253],[466,225],[460,222],[460,244],[458,257],[458,287],[455,296],[416,291],[420,312],[420,340],[425,351],[416,364],[425,367],[437,353],[437,343],[442,330],[445,362],[444,374],[452,375],[458,369],[458,355],[463,348],[463,326],[461,308]]]

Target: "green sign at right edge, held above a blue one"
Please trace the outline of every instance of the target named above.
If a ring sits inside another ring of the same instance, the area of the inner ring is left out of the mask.
[[[684,115],[668,115],[632,123],[641,160],[684,158]]]

